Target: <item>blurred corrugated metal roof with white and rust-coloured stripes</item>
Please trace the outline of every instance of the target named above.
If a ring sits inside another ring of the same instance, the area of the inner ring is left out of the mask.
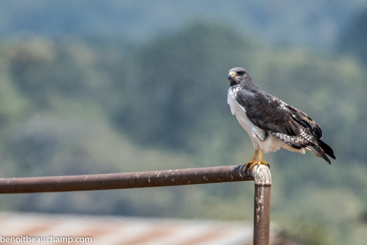
[[[244,245],[252,232],[244,222],[0,213],[3,237],[92,237],[93,245]]]

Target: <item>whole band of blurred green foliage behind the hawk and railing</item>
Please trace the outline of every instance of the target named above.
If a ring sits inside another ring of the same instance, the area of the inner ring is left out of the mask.
[[[1,176],[243,164],[252,144],[226,104],[227,71],[242,66],[264,90],[312,116],[337,156],[329,166],[310,152],[267,154],[273,220],[319,220],[289,231],[314,234],[313,244],[348,244],[352,237],[360,243],[364,225],[357,222],[367,201],[366,68],[350,57],[275,50],[250,36],[195,22],[130,46],[33,35],[1,43]],[[6,196],[1,207],[251,219],[252,192],[252,183],[228,183],[26,194]]]

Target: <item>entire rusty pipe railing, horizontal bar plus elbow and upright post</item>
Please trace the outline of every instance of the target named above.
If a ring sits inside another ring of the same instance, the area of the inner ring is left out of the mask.
[[[243,171],[243,168],[244,165],[239,165],[135,173],[1,178],[0,194],[111,190],[254,180],[254,245],[268,245],[272,184],[270,171],[264,165],[255,165],[251,172]]]

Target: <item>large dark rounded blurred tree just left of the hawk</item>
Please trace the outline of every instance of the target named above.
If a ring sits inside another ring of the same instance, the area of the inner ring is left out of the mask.
[[[250,64],[253,47],[236,30],[196,22],[138,48],[122,78],[124,107],[116,106],[115,122],[139,143],[196,152],[201,137],[228,127],[226,73]]]

